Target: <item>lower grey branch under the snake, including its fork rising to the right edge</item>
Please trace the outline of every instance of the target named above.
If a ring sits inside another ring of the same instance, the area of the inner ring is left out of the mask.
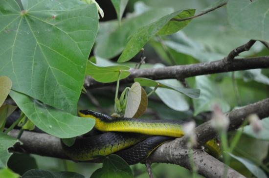
[[[269,117],[269,99],[249,104],[237,110],[227,113],[230,119],[229,130],[238,128],[244,119],[252,113],[256,113],[261,119]],[[19,131],[13,130],[9,135],[16,137]],[[216,135],[216,131],[210,126],[210,122],[205,122],[196,128],[196,134],[200,142],[205,142]],[[38,154],[54,158],[69,159],[63,152],[59,138],[47,134],[24,131],[20,139],[22,145],[17,144],[12,151]],[[148,158],[150,162],[165,162],[179,164],[190,169],[188,149],[185,146],[185,137],[176,138],[166,142],[156,149]],[[208,155],[206,152],[194,149],[194,164],[198,168],[198,173],[207,178],[222,177],[224,164],[218,159]],[[244,178],[235,170],[228,168],[228,176],[234,178]]]

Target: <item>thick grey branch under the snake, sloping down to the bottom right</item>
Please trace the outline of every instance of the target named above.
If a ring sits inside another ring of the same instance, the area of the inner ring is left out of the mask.
[[[18,135],[18,130],[12,130],[8,134],[12,137]],[[62,150],[60,139],[47,134],[24,131],[20,139],[22,145],[16,144],[11,151],[37,154],[46,157],[70,159]],[[150,162],[165,162],[178,164],[191,169],[188,159],[188,149],[182,138],[175,139],[161,145],[149,158]],[[224,163],[198,149],[192,150],[195,166],[198,173],[207,178],[220,178],[223,176]],[[90,161],[89,161],[90,162]],[[100,160],[96,161],[100,163]],[[228,176],[231,178],[245,178],[235,170],[228,168]]]

